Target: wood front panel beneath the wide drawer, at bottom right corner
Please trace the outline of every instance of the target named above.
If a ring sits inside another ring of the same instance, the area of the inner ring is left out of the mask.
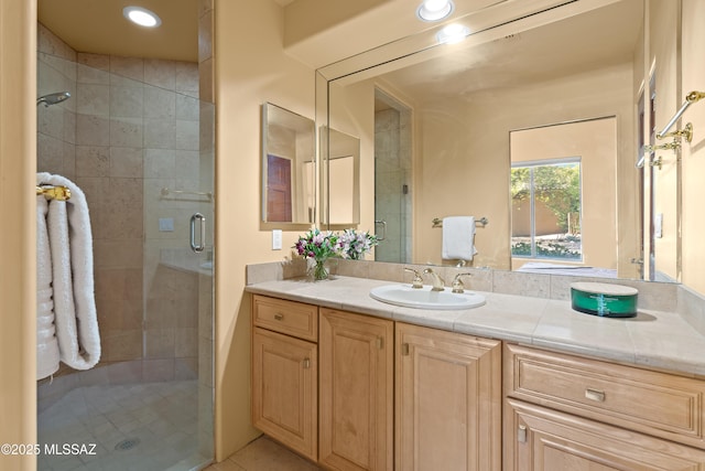
[[[705,451],[507,399],[506,471],[696,471]]]

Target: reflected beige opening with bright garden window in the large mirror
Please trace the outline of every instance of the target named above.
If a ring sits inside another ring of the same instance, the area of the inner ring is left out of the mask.
[[[617,276],[616,143],[615,117],[510,132],[512,269]]]

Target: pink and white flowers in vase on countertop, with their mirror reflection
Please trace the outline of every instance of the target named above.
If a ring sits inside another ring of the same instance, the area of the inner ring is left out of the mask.
[[[299,237],[293,248],[300,256],[315,260],[313,276],[322,280],[328,278],[328,270],[325,267],[328,258],[359,260],[365,258],[365,254],[377,244],[379,244],[377,236],[367,231],[358,233],[355,229],[345,229],[341,234],[335,234],[330,231],[311,229]]]

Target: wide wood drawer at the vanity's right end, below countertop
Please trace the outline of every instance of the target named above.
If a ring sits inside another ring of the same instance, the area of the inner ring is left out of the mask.
[[[506,344],[505,394],[705,449],[705,382]]]

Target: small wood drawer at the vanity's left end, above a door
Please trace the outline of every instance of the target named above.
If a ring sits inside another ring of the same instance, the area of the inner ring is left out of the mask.
[[[312,304],[254,295],[252,321],[274,332],[313,342],[318,340],[318,308]]]

